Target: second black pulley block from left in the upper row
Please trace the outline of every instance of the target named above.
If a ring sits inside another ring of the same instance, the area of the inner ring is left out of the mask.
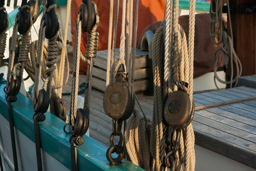
[[[28,9],[25,8],[23,11],[19,11],[16,15],[16,19],[18,19],[18,32],[20,34],[24,34],[29,30],[30,27],[30,15]]]

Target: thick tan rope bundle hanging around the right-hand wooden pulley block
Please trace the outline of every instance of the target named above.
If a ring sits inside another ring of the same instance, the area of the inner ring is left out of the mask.
[[[174,1],[166,1],[166,20],[156,31],[152,46],[154,106],[150,150],[155,160],[155,170],[166,169],[163,160],[168,131],[162,114],[168,95],[180,88],[189,94],[191,104],[193,100],[195,0],[191,0],[189,6],[188,46],[185,32],[178,24],[178,6],[177,0],[175,4]],[[187,82],[188,88],[180,84],[179,80]],[[195,169],[194,132],[191,124],[182,129],[180,148],[176,155],[177,170]]]

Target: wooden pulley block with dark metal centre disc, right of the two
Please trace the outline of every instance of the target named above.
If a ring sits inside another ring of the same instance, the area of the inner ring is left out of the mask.
[[[192,121],[195,111],[194,101],[192,110],[189,95],[181,90],[171,93],[165,103],[164,117],[167,124],[174,128],[184,129]]]

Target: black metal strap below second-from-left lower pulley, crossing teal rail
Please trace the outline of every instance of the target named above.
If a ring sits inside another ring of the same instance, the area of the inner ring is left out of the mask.
[[[36,148],[36,160],[37,160],[37,170],[43,171],[42,167],[42,156],[41,156],[41,144],[40,144],[40,134],[39,134],[39,124],[34,117],[34,133],[35,133],[35,148]]]

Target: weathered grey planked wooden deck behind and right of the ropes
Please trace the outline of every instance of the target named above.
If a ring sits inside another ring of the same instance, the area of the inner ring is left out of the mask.
[[[69,63],[72,70],[71,59]],[[71,90],[72,77],[69,76],[63,93]],[[84,82],[85,77],[79,76],[79,83]],[[103,110],[103,95],[101,91],[92,90],[89,133],[92,139],[108,147],[112,119]],[[255,95],[256,89],[243,86],[194,94],[194,101],[196,106],[202,106]],[[153,96],[137,94],[137,97],[146,115],[152,119]],[[69,110],[70,96],[62,96],[62,99]],[[135,108],[139,109],[137,103]],[[256,168],[256,101],[197,111],[192,124],[197,145]],[[118,143],[117,141],[115,139],[114,143]]]

